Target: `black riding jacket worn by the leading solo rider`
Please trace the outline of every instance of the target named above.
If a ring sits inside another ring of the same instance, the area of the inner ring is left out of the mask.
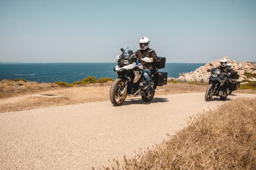
[[[146,50],[137,50],[136,56],[137,56],[137,59],[143,65],[143,69],[152,70],[152,69],[155,68],[155,63],[156,63],[156,60],[157,60],[157,54],[151,48],[147,48]],[[141,59],[144,58],[144,57],[153,58],[153,62],[152,63],[146,63],[146,62],[142,61]]]

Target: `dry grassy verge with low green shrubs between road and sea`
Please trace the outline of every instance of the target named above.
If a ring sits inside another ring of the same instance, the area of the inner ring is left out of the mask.
[[[107,81],[105,83],[80,84],[66,88],[59,87],[54,83],[3,80],[0,82],[0,112],[108,101],[111,84],[112,81]],[[167,83],[165,86],[157,87],[156,95],[205,92],[206,88],[206,85]],[[256,90],[246,89],[236,92],[256,93]],[[62,96],[63,99],[59,97],[58,99],[52,99],[52,97],[48,97],[49,99],[47,99],[46,96],[35,96],[35,94],[55,94]],[[34,100],[35,97],[36,99]]]

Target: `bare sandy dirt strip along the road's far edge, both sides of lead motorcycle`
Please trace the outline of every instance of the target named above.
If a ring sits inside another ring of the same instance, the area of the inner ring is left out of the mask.
[[[75,86],[32,91],[28,94],[17,94],[11,98],[0,99],[0,113],[20,111],[39,107],[61,106],[68,104],[101,102],[109,100],[110,84],[93,86]],[[189,92],[205,92],[207,86],[186,83],[168,83],[157,87],[155,96]],[[237,90],[237,93],[256,93],[256,90]],[[127,96],[127,99],[134,96]]]

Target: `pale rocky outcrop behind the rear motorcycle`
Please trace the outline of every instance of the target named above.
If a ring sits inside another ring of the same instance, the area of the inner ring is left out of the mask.
[[[232,64],[232,67],[234,70],[238,71],[240,75],[240,78],[238,81],[243,81],[243,80],[256,81],[256,78],[253,78],[253,77],[247,78],[245,76],[245,72],[248,72],[250,74],[256,74],[255,63],[236,62],[235,60],[229,60],[228,57],[223,57],[223,58],[225,58],[229,63]],[[210,68],[218,67],[220,65],[220,61],[221,59],[209,62],[204,66],[200,66],[195,71],[186,72],[186,73],[183,72],[182,74],[179,74],[179,78],[176,78],[175,80],[188,81],[188,82],[208,82],[210,72],[208,72],[207,70]],[[210,66],[210,64],[212,64],[213,66]]]

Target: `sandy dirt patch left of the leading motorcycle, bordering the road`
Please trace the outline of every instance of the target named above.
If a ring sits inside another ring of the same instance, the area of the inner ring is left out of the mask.
[[[109,100],[109,90],[110,86],[57,88],[50,91],[38,91],[37,94],[3,98],[0,99],[0,113],[39,107],[106,101]],[[41,94],[53,94],[56,96]]]

